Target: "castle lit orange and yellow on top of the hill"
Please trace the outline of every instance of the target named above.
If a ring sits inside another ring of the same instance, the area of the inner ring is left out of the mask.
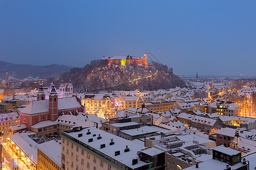
[[[114,56],[114,57],[102,57],[108,62],[108,65],[142,65],[147,66],[147,53],[144,53],[143,57],[132,56]]]

